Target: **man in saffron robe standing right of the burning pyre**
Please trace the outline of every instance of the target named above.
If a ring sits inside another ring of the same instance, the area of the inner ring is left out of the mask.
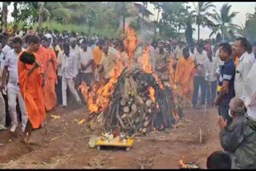
[[[183,57],[179,58],[174,83],[178,87],[178,94],[192,101],[194,90],[194,61],[190,57],[189,48],[182,50]]]

